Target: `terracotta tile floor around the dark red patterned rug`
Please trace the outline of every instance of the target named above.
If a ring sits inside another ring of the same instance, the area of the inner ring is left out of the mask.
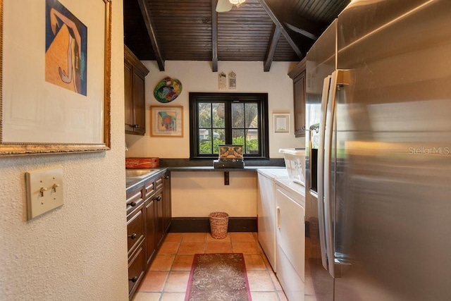
[[[133,301],[185,300],[192,259],[196,253],[243,253],[254,301],[287,301],[257,233],[231,232],[224,239],[209,233],[168,233]]]

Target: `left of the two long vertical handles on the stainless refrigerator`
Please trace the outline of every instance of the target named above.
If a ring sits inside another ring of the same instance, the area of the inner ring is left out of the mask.
[[[321,131],[321,133],[319,135],[318,167],[317,167],[319,245],[321,247],[321,263],[323,264],[323,267],[326,270],[328,270],[328,265],[327,265],[326,233],[324,223],[324,137],[325,137],[324,129],[326,128],[326,113],[327,113],[327,101],[329,98],[330,78],[331,78],[330,75],[324,78],[323,93],[321,94],[321,116],[319,119],[319,130]]]

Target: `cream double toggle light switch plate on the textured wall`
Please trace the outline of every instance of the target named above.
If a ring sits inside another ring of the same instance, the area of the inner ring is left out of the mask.
[[[63,168],[25,173],[27,220],[63,205]]]

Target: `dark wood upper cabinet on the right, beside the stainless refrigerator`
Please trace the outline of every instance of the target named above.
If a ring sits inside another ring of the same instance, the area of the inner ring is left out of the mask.
[[[288,73],[293,80],[295,137],[305,137],[305,62],[304,58]]]

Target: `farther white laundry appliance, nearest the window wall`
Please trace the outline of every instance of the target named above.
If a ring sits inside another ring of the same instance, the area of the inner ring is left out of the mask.
[[[259,168],[259,194],[257,202],[258,238],[269,264],[276,270],[276,182],[288,179],[286,168]]]

